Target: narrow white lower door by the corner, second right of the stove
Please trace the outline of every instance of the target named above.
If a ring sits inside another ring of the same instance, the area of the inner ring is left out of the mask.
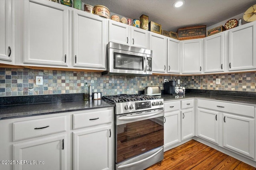
[[[194,109],[181,111],[181,140],[194,136]]]

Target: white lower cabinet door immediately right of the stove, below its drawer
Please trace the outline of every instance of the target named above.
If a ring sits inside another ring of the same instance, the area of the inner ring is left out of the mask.
[[[180,142],[180,111],[164,113],[164,147]]]

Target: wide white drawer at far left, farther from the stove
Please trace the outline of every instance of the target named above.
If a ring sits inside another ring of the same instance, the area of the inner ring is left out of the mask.
[[[48,117],[13,123],[13,140],[66,131],[66,116]]]

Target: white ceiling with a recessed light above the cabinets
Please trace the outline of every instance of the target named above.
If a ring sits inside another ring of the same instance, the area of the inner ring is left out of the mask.
[[[186,0],[180,8],[172,7],[176,0],[82,0],[85,4],[104,5],[110,12],[139,19],[142,14],[162,29],[176,32],[178,28],[197,25],[209,27],[244,13],[256,0]],[[239,18],[236,18],[239,19]]]

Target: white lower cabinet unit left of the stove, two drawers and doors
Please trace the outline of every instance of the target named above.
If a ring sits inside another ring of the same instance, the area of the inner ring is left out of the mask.
[[[104,107],[0,120],[0,170],[113,170],[113,116]]]

